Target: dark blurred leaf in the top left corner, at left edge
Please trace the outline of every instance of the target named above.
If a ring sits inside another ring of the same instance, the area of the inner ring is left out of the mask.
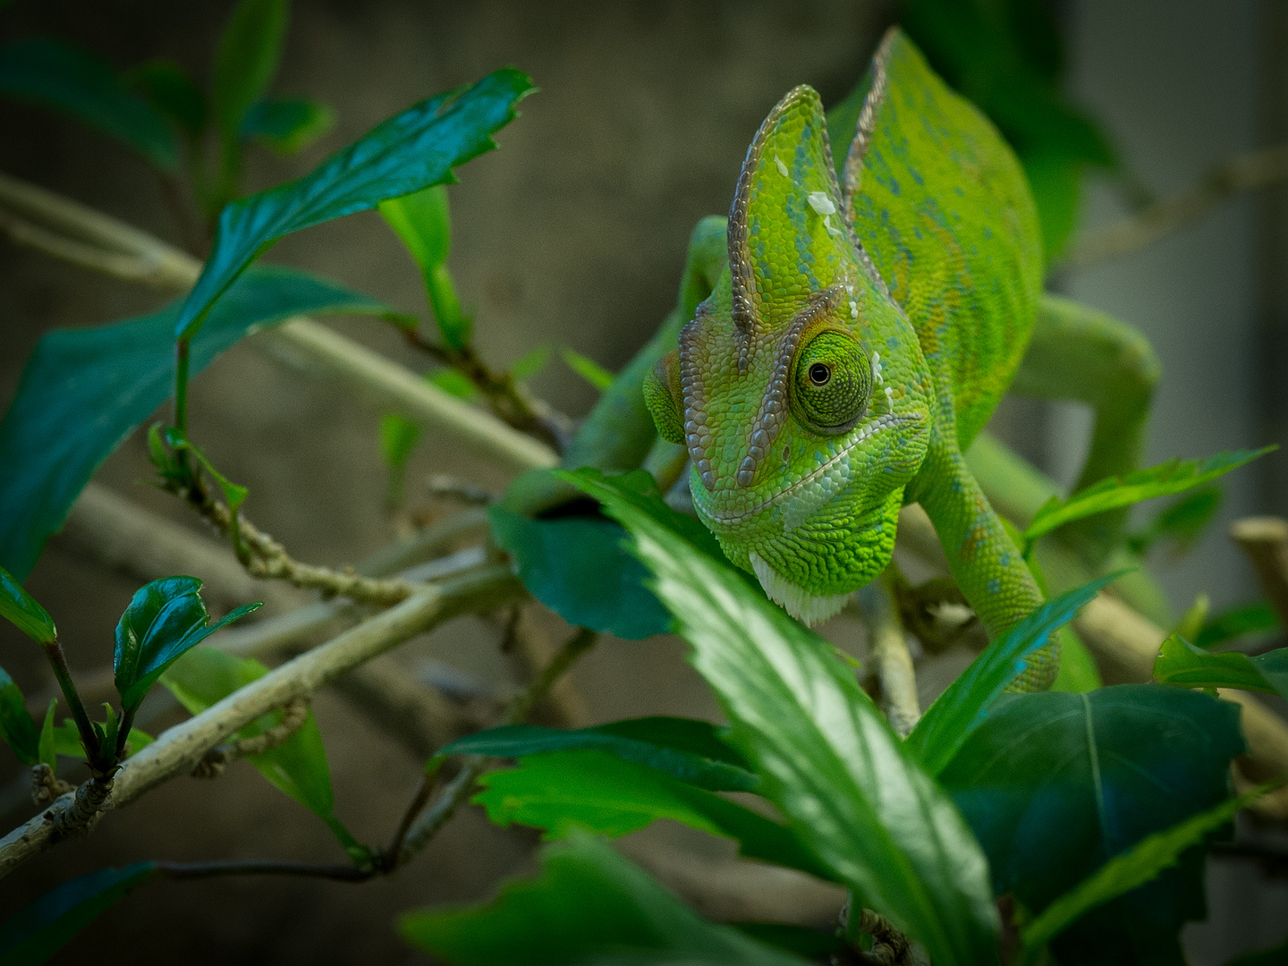
[[[111,64],[54,40],[0,49],[0,93],[31,100],[108,134],[162,171],[179,166],[166,118],[130,90]]]

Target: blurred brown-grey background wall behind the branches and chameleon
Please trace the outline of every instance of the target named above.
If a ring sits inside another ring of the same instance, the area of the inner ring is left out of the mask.
[[[0,9],[0,40],[57,36],[118,68],[164,55],[205,79],[231,6],[224,0],[17,0]],[[294,157],[249,155],[246,183],[259,189],[301,174],[390,113],[496,67],[527,71],[541,90],[501,131],[500,149],[460,169],[461,183],[450,188],[451,268],[475,313],[480,350],[495,366],[550,344],[616,371],[674,304],[689,231],[701,216],[726,211],[738,165],[768,109],[799,82],[814,85],[826,104],[840,100],[900,13],[895,4],[824,0],[299,0],[273,90],[330,104],[335,126]],[[1148,462],[1288,443],[1283,188],[1236,193],[1121,256],[1094,260],[1078,247],[1079,238],[1131,214],[1133,205],[1190,189],[1213,166],[1288,140],[1288,4],[1065,0],[1050,14],[1063,43],[1063,61],[1054,54],[1045,61],[1052,97],[1101,137],[1068,162],[1068,191],[1052,209],[1064,210],[1065,227],[1073,228],[1064,256],[1084,264],[1056,267],[1050,283],[1137,326],[1154,344],[1163,379]],[[987,90],[990,77],[1006,75],[999,68],[963,82]],[[184,225],[157,179],[116,142],[10,100],[0,100],[0,171],[183,245]],[[1043,162],[1038,140],[1025,156],[1033,165]],[[1082,187],[1077,206],[1068,187],[1075,184]],[[337,278],[426,317],[416,267],[374,214],[292,236],[269,260]],[[0,406],[45,331],[100,325],[165,299],[0,241]],[[381,322],[330,323],[426,367]],[[595,398],[558,358],[531,386],[574,416]],[[255,339],[231,350],[193,388],[193,437],[231,478],[250,487],[249,515],[304,560],[353,562],[394,536],[379,419],[379,410],[349,393],[279,365]],[[1032,401],[1009,401],[994,420],[1003,438],[1065,484],[1081,466],[1088,426],[1088,413],[1077,406]],[[1198,592],[1209,594],[1217,608],[1255,595],[1225,523],[1288,511],[1285,465],[1270,459],[1231,474],[1221,516],[1203,542],[1185,559],[1159,562],[1179,611]],[[139,482],[148,471],[142,440],[131,439],[98,479],[194,527],[176,501]],[[429,473],[492,488],[505,483],[495,468],[457,453],[450,439],[429,437],[408,468],[412,511],[446,511],[421,488]],[[137,581],[55,541],[27,586],[58,621],[73,668],[109,662],[111,631]],[[857,632],[844,618],[831,631],[842,643]],[[479,679],[505,680],[497,636],[487,621],[462,618],[403,648],[398,659],[437,659]],[[0,657],[28,693],[40,689],[40,654],[8,625],[0,627]],[[671,639],[607,640],[574,679],[595,721],[716,714]],[[421,762],[341,698],[325,693],[314,706],[339,813],[359,838],[384,840],[415,791]],[[12,784],[18,772],[6,759],[0,784]],[[3,805],[5,828],[32,814],[21,797],[10,795]],[[417,962],[394,934],[393,917],[417,905],[486,896],[498,877],[524,867],[532,841],[468,809],[392,880],[144,887],[57,961],[94,956],[112,962],[128,949],[131,960],[149,962]],[[685,840],[690,846],[711,848]],[[321,823],[242,764],[213,784],[170,783],[109,815],[91,837],[31,863],[5,880],[0,916],[73,875],[142,858],[335,862],[341,859],[336,853]],[[1288,882],[1262,877],[1248,863],[1212,871],[1209,907],[1209,922],[1189,927],[1186,938],[1191,962],[1200,966],[1279,942],[1288,931]]]

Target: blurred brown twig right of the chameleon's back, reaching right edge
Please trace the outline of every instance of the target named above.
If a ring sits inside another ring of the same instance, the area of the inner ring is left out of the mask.
[[[1177,228],[1198,220],[1226,198],[1288,178],[1288,144],[1225,161],[1212,167],[1194,188],[1164,198],[1140,214],[1088,232],[1061,259],[1061,267],[1082,268],[1142,249]]]

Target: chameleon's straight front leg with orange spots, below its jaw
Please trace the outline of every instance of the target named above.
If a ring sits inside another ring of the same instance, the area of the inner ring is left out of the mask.
[[[956,438],[938,428],[933,431],[908,496],[921,504],[934,524],[948,568],[989,640],[1042,604],[1037,581],[966,466]],[[1028,670],[1011,689],[1045,690],[1059,670],[1060,648],[1052,643],[1029,658]]]

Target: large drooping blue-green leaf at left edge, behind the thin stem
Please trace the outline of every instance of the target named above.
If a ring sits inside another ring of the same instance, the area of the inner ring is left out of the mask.
[[[251,332],[291,316],[393,316],[375,299],[283,268],[256,268],[229,289],[192,343],[192,374]],[[174,388],[179,303],[97,328],[46,334],[0,421],[0,567],[31,573],[98,465]]]

